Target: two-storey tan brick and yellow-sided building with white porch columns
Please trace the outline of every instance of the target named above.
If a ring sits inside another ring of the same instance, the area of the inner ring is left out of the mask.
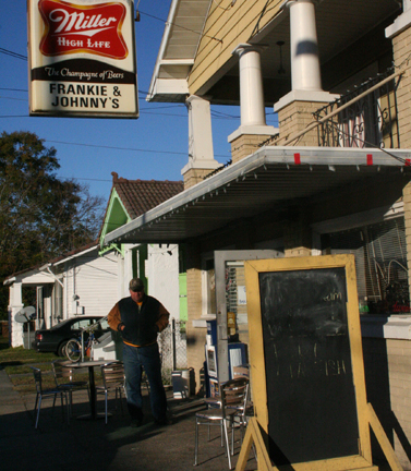
[[[197,389],[207,321],[217,322],[220,379],[230,373],[230,336],[246,343],[244,259],[264,251],[354,254],[367,396],[404,469],[410,34],[410,0],[173,0],[147,99],[188,105],[184,192],[105,240],[185,243],[188,358]],[[241,111],[228,136],[232,164],[220,169],[216,105]],[[266,124],[266,107],[278,128]]]

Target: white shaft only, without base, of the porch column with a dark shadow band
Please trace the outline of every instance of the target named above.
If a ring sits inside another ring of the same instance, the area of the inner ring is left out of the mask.
[[[292,89],[322,90],[315,7],[312,0],[292,0],[290,50]]]

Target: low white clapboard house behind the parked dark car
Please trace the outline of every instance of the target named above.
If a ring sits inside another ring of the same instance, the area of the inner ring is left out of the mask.
[[[23,289],[36,291],[36,329],[50,328],[75,316],[106,316],[118,300],[118,263],[113,251],[99,256],[97,242],[50,261],[41,267],[24,270],[4,280],[9,286],[9,333],[11,347],[24,345],[26,326],[15,321],[24,309]],[[32,329],[32,336],[34,329]]]

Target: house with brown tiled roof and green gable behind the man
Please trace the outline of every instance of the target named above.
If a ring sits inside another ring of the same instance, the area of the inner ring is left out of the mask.
[[[114,251],[119,264],[119,298],[128,297],[133,277],[144,280],[146,292],[162,302],[172,318],[186,316],[181,307],[181,279],[185,280],[178,244],[114,243],[104,246],[112,230],[126,225],[164,201],[183,191],[181,181],[129,180],[112,172],[112,189],[100,233],[100,255]]]

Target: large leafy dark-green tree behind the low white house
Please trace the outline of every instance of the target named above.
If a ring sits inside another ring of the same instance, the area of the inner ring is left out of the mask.
[[[0,137],[0,277],[49,262],[94,241],[102,219],[102,198],[73,180],[59,180],[53,147],[34,133]],[[0,316],[7,290],[0,288]],[[5,294],[5,295],[4,295]],[[5,304],[4,304],[5,302]]]

